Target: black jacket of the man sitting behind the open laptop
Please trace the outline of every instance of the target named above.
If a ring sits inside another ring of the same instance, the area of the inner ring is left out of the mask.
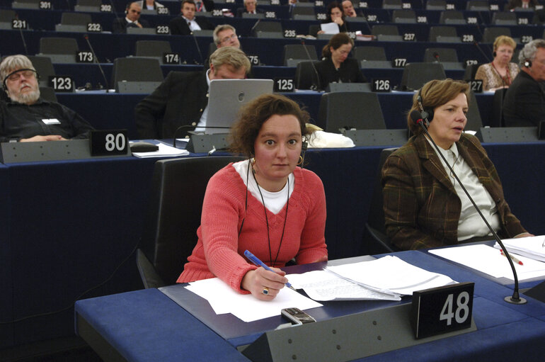
[[[173,138],[180,125],[194,130],[208,104],[206,72],[170,72],[155,91],[134,108],[141,139]],[[180,131],[177,137],[185,132]]]

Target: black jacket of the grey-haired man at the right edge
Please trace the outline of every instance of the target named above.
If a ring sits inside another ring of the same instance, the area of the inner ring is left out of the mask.
[[[503,98],[503,119],[507,127],[537,127],[545,120],[544,84],[520,71]]]

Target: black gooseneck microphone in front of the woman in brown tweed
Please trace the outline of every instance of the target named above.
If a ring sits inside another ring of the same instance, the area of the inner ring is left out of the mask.
[[[458,181],[461,189],[464,190],[464,193],[466,193],[467,198],[469,198],[469,200],[471,201],[471,204],[474,206],[475,210],[477,210],[478,215],[481,216],[484,223],[486,224],[486,227],[488,227],[488,230],[490,230],[490,232],[492,232],[492,235],[493,235],[495,241],[498,242],[498,244],[500,244],[500,247],[503,250],[503,254],[505,254],[505,256],[507,256],[507,261],[509,261],[509,265],[511,266],[511,270],[513,272],[513,277],[515,278],[515,287],[513,288],[513,295],[511,295],[511,296],[507,295],[507,297],[503,298],[503,300],[505,300],[505,302],[512,303],[512,304],[525,304],[527,302],[527,300],[525,300],[524,298],[520,298],[520,295],[519,295],[519,278],[517,277],[517,271],[515,270],[515,265],[513,264],[512,260],[511,260],[511,256],[507,252],[507,249],[505,249],[505,246],[503,245],[503,242],[501,241],[500,237],[498,237],[498,234],[495,233],[495,231],[490,226],[488,221],[486,221],[486,218],[484,217],[483,213],[481,213],[481,210],[479,210],[479,208],[477,207],[477,204],[475,203],[473,198],[469,195],[469,192],[467,192],[466,188],[464,187],[464,184],[461,183],[460,179],[458,178],[458,175],[454,172],[454,169],[452,169],[452,166],[450,166],[449,162],[447,162],[447,159],[444,158],[444,156],[441,153],[439,147],[437,146],[437,144],[433,140],[432,136],[428,132],[428,128],[426,128],[426,126],[424,125],[425,122],[427,122],[429,124],[428,119],[425,118],[425,120],[423,120],[422,113],[414,110],[414,111],[411,112],[411,120],[413,120],[413,122],[416,123],[417,125],[420,125],[420,127],[425,132],[425,134],[428,135],[428,138],[430,139],[432,144],[435,146],[435,149],[437,149],[437,154],[439,154],[440,157],[443,159],[444,163],[447,164],[449,170],[452,172],[452,175],[454,176],[456,181]]]

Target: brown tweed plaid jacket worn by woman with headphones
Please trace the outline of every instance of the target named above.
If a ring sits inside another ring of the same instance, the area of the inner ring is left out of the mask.
[[[464,134],[457,147],[495,200],[500,236],[526,232],[511,213],[498,172],[477,138]],[[411,137],[386,159],[382,187],[386,234],[396,247],[407,250],[457,244],[461,201],[424,135]]]

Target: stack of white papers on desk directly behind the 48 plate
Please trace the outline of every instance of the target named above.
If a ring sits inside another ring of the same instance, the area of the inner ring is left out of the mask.
[[[415,290],[456,283],[397,256],[328,266],[324,271],[289,274],[287,278],[314,300],[401,300],[401,295],[412,295]]]

